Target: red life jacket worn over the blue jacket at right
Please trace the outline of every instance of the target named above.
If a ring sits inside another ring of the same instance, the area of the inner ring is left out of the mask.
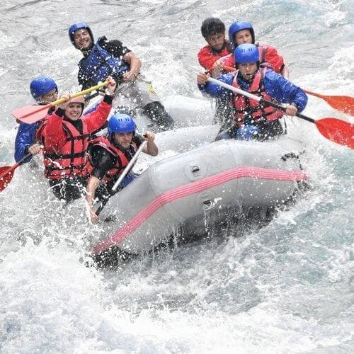
[[[263,84],[265,70],[266,69],[259,69],[258,72],[256,72],[253,82],[247,91],[255,96],[261,96],[264,100],[276,102],[265,92]],[[237,89],[242,89],[237,83],[238,74],[239,72],[236,72],[234,80],[232,81],[232,86]],[[282,118],[283,115],[281,110],[277,110],[270,105],[265,105],[264,103],[252,100],[246,96],[239,95],[238,93],[232,93],[230,104],[232,105],[232,112],[237,125],[244,124],[245,114],[250,115],[251,120],[254,120],[256,123],[264,120],[276,120]]]

